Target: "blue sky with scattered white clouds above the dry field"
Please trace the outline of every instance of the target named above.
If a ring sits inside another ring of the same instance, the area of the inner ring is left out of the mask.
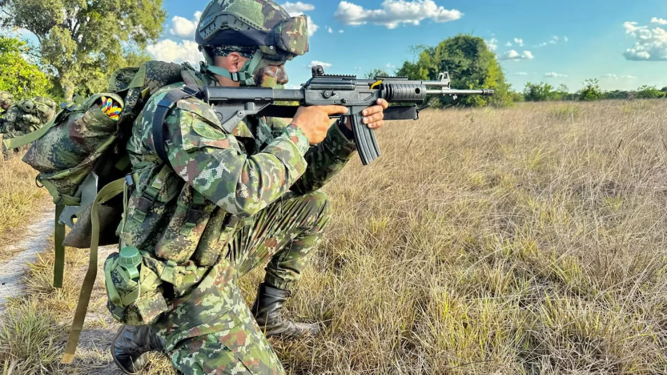
[[[191,29],[206,4],[165,0],[165,32],[149,51],[171,61],[197,59]],[[576,91],[591,77],[604,89],[667,86],[664,0],[305,0],[285,7],[317,25],[309,53],[287,65],[291,85],[307,80],[311,61],[330,64],[330,73],[393,73],[413,58],[411,45],[473,33],[497,46],[499,58],[514,57],[502,60],[514,89],[545,81]]]

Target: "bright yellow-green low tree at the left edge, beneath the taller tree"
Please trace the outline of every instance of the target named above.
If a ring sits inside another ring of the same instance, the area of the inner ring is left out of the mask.
[[[15,99],[45,96],[49,78],[27,57],[31,49],[21,39],[0,36],[0,91],[9,91]]]

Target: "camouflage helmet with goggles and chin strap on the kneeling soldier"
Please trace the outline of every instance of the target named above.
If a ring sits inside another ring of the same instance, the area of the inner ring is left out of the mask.
[[[307,18],[289,17],[273,0],[212,0],[199,18],[195,41],[205,58],[202,71],[252,86],[266,61],[289,61],[308,51]],[[237,73],[213,62],[229,51],[249,58]]]

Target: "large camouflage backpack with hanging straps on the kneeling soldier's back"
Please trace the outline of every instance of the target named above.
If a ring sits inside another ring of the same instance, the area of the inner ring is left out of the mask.
[[[41,129],[9,140],[13,147],[31,143],[23,161],[39,171],[37,182],[49,191],[56,205],[53,286],[62,287],[65,246],[90,248],[62,363],[73,360],[83,328],[97,276],[97,248],[119,243],[115,233],[123,216],[121,193],[127,188],[127,176],[131,176],[125,144],[133,123],[161,87],[197,81],[188,63],[148,61],[139,67],[125,67],[111,75],[109,92],[63,103],[61,111]],[[122,108],[117,120],[103,113],[103,97]],[[72,228],[66,237],[65,225]]]

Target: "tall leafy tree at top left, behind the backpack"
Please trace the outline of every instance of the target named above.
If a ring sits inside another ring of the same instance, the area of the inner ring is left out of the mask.
[[[0,0],[0,7],[3,26],[37,36],[41,63],[67,100],[77,89],[103,89],[113,70],[157,40],[166,16],[162,0]]]

